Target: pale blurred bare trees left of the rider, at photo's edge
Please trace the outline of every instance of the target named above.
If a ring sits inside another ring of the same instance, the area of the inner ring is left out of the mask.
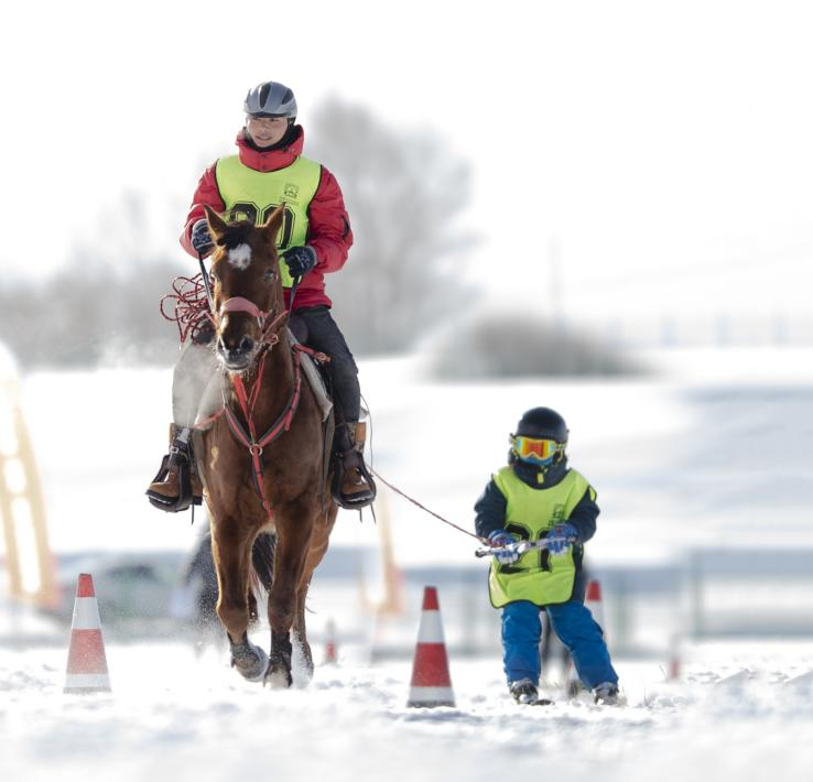
[[[45,282],[17,281],[0,289],[2,339],[20,365],[87,367],[98,363],[170,363],[176,328],[159,301],[180,259],[145,249],[145,197],[124,193],[97,235],[74,247],[65,268]],[[187,273],[194,274],[189,264]]]

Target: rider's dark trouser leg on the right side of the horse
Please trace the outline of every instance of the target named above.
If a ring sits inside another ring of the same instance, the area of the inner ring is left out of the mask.
[[[361,409],[358,368],[344,335],[330,315],[330,308],[319,305],[297,309],[291,315],[289,326],[303,345],[330,357],[325,370],[333,387],[336,423],[358,421]]]

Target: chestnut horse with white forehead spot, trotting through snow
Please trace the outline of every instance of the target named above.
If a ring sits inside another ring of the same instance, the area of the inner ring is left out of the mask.
[[[217,615],[228,634],[231,664],[250,681],[285,687],[292,683],[292,630],[313,672],[305,597],[338,508],[323,492],[322,411],[300,376],[302,348],[288,338],[277,254],[283,208],[259,227],[227,224],[206,209],[215,242],[215,345],[229,382],[225,415],[203,433],[198,464],[220,589]],[[269,656],[248,638],[257,611],[252,547],[261,532],[275,534]]]

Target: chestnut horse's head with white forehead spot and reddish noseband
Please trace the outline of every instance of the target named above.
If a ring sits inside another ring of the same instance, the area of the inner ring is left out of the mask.
[[[245,220],[227,224],[206,207],[215,242],[210,276],[217,354],[231,372],[251,367],[260,347],[275,343],[288,319],[277,256],[283,208],[254,226]]]

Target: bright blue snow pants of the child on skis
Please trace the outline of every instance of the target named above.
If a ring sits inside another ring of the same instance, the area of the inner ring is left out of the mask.
[[[592,689],[601,682],[618,683],[601,628],[583,602],[571,600],[542,609],[519,600],[502,608],[502,666],[509,686],[520,678],[539,684],[542,610],[548,611],[553,631],[573,655],[582,684]]]

